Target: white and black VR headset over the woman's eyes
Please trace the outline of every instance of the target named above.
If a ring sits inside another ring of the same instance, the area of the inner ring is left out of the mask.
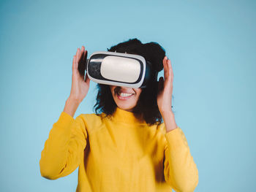
[[[92,53],[86,60],[86,71],[94,82],[129,88],[145,88],[158,74],[141,55],[108,51]]]

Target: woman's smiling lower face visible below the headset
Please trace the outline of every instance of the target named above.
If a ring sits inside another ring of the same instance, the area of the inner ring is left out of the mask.
[[[126,88],[110,85],[110,91],[118,108],[132,112],[140,97],[141,88]]]

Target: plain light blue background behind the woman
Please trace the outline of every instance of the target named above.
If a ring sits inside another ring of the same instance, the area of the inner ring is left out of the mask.
[[[255,191],[255,1],[2,1],[0,191],[75,191],[78,169],[39,172],[67,100],[72,57],[138,38],[172,61],[173,110],[199,171],[195,191]],[[97,88],[78,107],[93,112]]]

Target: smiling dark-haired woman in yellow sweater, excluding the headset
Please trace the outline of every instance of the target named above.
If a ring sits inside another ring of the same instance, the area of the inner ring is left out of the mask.
[[[41,153],[42,177],[55,180],[79,166],[76,191],[194,191],[197,166],[171,110],[173,70],[165,50],[129,39],[108,51],[142,55],[154,77],[146,88],[98,85],[96,114],[74,119],[90,83],[82,65],[87,52],[78,48],[70,96]],[[162,69],[165,79],[157,82]]]

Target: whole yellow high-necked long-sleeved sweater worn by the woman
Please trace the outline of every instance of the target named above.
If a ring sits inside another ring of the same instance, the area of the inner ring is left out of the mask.
[[[56,180],[78,166],[77,192],[194,191],[198,171],[181,128],[147,126],[119,108],[112,118],[61,112],[39,161]]]

